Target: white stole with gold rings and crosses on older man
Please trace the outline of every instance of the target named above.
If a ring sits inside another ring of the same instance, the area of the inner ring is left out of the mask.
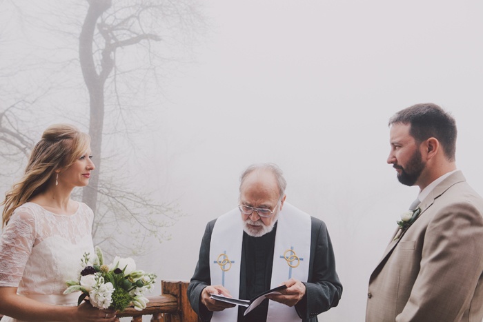
[[[217,219],[210,242],[212,285],[223,285],[230,294],[239,295],[242,259],[243,221],[238,208]],[[284,203],[277,221],[270,288],[284,281],[307,281],[311,252],[311,217]],[[211,321],[237,321],[237,308],[213,312]],[[267,321],[301,321],[295,307],[269,301]]]

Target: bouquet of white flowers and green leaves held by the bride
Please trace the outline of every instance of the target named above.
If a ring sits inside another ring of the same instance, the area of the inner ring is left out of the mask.
[[[81,291],[78,305],[86,299],[99,310],[111,308],[122,311],[130,305],[138,311],[146,308],[144,293],[156,282],[156,275],[136,270],[133,259],[116,256],[110,264],[104,263],[101,249],[96,247],[91,261],[90,253],[81,259],[82,270],[77,281],[67,281],[63,294]]]

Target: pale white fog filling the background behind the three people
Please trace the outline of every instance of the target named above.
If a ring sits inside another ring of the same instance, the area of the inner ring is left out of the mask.
[[[53,28],[48,6],[56,4],[20,1],[16,6],[31,15],[19,22],[7,19],[12,3],[0,1],[10,8],[0,16],[2,68],[48,52],[56,38],[34,26]],[[459,131],[457,167],[483,194],[483,3],[210,0],[200,6],[202,32],[188,49],[174,50],[182,58],[160,75],[157,96],[146,102],[155,114],[130,119],[139,129],[130,141],[136,152],[117,168],[134,175],[133,186],[154,190],[184,214],[168,228],[169,240],[135,258],[138,267],[159,280],[188,281],[206,223],[237,205],[239,174],[251,163],[273,162],[284,171],[286,201],[325,221],[331,234],[344,292],[319,320],[364,321],[368,278],[418,192],[398,183],[386,164],[389,117],[415,103],[451,111]],[[79,11],[79,19],[85,14]],[[30,24],[32,17],[38,20]],[[71,50],[75,57],[77,48]],[[48,75],[9,74],[8,86],[28,92]],[[42,114],[26,120],[37,141],[50,123],[86,118],[85,90],[66,96],[54,88],[47,96],[39,100]],[[62,105],[76,112],[60,116]],[[121,143],[115,147],[123,154]],[[2,195],[12,182],[1,183]]]

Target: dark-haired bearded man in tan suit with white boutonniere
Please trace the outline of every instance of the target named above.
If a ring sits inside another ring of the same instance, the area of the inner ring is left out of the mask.
[[[455,120],[426,103],[397,112],[387,162],[420,188],[369,279],[366,321],[482,321],[483,199],[455,165]]]

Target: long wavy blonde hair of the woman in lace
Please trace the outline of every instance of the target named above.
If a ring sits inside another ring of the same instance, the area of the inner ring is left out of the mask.
[[[2,205],[5,226],[12,213],[23,203],[46,190],[55,170],[69,168],[88,149],[90,137],[69,124],[50,125],[34,146],[23,178],[12,186]],[[53,180],[51,181],[53,182]]]

